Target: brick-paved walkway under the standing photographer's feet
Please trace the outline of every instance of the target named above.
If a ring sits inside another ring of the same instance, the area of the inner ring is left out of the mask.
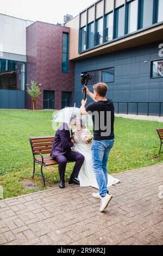
[[[115,176],[103,213],[96,190],[76,185],[2,200],[0,245],[162,245],[163,164]]]

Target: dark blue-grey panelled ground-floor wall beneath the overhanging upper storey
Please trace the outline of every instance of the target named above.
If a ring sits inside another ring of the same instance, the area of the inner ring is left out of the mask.
[[[114,83],[108,83],[108,97],[113,101],[147,101],[163,102],[163,78],[151,78],[151,61],[163,59],[159,57],[159,44],[154,42],[127,50],[104,54],[102,56],[78,60],[75,63],[75,102],[80,106],[82,100],[79,75],[83,71],[115,68]],[[92,84],[89,86],[92,88]],[[92,89],[91,89],[92,90]],[[88,98],[88,103],[92,102]],[[139,106],[139,111],[146,113],[146,104]],[[117,106],[115,107],[117,108]],[[120,106],[120,111],[125,106]],[[152,110],[152,109],[153,110]],[[129,105],[131,113],[136,112],[136,105]],[[157,114],[158,105],[150,106],[150,111]],[[163,113],[162,113],[163,114]]]

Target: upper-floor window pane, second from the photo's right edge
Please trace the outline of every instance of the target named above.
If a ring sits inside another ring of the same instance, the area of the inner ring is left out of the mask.
[[[146,28],[153,24],[153,0],[143,0],[141,8],[141,28]]]

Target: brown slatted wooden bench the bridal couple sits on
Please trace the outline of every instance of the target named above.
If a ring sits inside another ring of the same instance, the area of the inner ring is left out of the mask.
[[[46,187],[46,183],[45,183],[45,178],[43,176],[42,168],[46,166],[53,166],[58,164],[58,162],[52,159],[52,157],[43,156],[43,155],[51,154],[53,141],[54,141],[54,136],[29,138],[29,142],[32,148],[33,160],[34,160],[33,179],[34,179],[34,175],[41,176],[43,180],[43,185],[45,187]],[[35,163],[38,163],[41,165],[41,174],[35,173]]]

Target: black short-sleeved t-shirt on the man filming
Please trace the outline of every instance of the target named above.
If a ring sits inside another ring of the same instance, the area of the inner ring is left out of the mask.
[[[85,108],[92,114],[93,135],[95,141],[114,139],[114,105],[111,100],[97,101]]]

